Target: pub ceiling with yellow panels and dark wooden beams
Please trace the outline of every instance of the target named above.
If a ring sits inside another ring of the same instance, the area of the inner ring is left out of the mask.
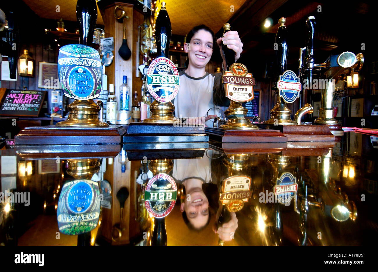
[[[159,8],[161,1],[156,1]],[[23,0],[23,2],[41,18],[54,20],[62,18],[76,22],[77,0]],[[105,4],[112,1],[101,0],[101,2]],[[119,2],[133,1],[119,0]],[[308,16],[314,15],[316,19],[315,61],[321,63],[330,54],[342,51],[360,53],[362,43],[368,45],[369,41],[373,41],[374,36],[371,31],[376,24],[373,12],[378,6],[378,1],[346,3],[343,0],[313,2],[303,0],[165,0],[164,2],[166,2],[171,20],[172,34],[184,36],[193,26],[205,24],[215,32],[215,36],[220,37],[223,33],[223,24],[229,22],[231,29],[239,32],[243,42],[240,62],[245,63],[251,71],[258,70],[262,66],[269,66],[267,62],[276,61],[273,44],[280,17],[287,19],[290,48],[288,69],[297,70],[299,48],[305,46]],[[56,12],[56,5],[60,6],[60,12]],[[273,20],[273,25],[269,28],[263,26],[267,17]],[[103,24],[100,12],[98,12],[98,24]],[[367,50],[375,47],[375,42],[369,44],[369,47],[366,46]],[[367,52],[365,53],[364,55],[367,56]],[[374,50],[374,53],[378,59],[378,51]],[[217,50],[214,51],[213,56],[213,60],[220,60]],[[258,63],[257,66],[256,63]]]

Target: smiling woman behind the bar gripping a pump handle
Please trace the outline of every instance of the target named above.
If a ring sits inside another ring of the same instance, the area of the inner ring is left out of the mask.
[[[228,106],[229,101],[225,99],[222,89],[222,74],[207,73],[206,65],[211,59],[215,44],[219,47],[222,43],[227,45],[235,52],[235,60],[240,57],[243,44],[236,31],[229,31],[225,37],[216,40],[214,32],[205,25],[192,28],[186,40],[188,43],[184,44],[184,51],[188,54],[189,64],[185,71],[179,73],[180,89],[174,100],[175,116],[180,119],[204,120],[206,126],[212,127],[212,121],[209,119],[215,116],[210,115],[206,118],[203,116],[206,116],[214,105]]]

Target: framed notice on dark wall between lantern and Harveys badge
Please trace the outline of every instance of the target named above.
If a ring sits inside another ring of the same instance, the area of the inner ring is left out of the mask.
[[[57,63],[39,62],[38,88],[60,89]]]

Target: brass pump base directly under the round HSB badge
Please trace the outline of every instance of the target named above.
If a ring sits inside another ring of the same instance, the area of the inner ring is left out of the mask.
[[[177,118],[173,115],[175,105],[170,101],[162,103],[155,100],[150,105],[150,111],[150,118],[144,119],[142,123],[173,124],[177,122]]]

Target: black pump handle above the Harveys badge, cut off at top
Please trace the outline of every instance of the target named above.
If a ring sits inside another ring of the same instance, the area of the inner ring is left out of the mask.
[[[97,22],[96,0],[77,0],[76,19],[80,25],[80,44],[92,47],[93,32]]]

